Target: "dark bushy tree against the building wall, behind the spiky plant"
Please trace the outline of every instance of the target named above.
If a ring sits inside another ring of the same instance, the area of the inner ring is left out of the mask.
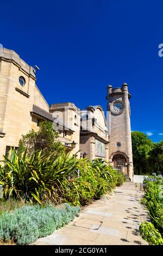
[[[27,154],[32,154],[36,150],[42,152],[59,154],[65,150],[61,142],[56,141],[58,132],[53,131],[52,123],[45,120],[40,123],[39,131],[29,131],[26,135],[22,135],[18,145],[18,154],[21,154],[27,148]]]

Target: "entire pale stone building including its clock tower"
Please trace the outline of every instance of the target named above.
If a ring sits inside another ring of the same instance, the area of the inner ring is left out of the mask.
[[[36,86],[35,68],[7,48],[0,48],[0,160],[21,135],[49,120],[71,155],[109,161],[133,180],[128,86],[108,86],[107,121],[101,106],[80,110],[74,103],[48,105]],[[55,99],[54,99],[55,101]]]

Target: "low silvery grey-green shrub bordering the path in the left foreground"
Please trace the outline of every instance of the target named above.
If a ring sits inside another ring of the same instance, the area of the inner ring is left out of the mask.
[[[0,239],[5,242],[13,239],[18,245],[27,245],[72,221],[79,210],[78,206],[70,205],[65,205],[65,209],[33,205],[5,212],[0,217]]]

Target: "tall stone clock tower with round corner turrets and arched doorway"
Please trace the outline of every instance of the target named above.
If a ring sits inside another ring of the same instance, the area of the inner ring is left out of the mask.
[[[109,130],[109,162],[133,181],[133,154],[130,128],[130,102],[128,84],[108,86],[107,119]]]

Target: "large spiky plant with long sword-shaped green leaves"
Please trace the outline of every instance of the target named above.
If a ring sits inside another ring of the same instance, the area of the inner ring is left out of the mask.
[[[40,204],[47,200],[58,201],[59,182],[78,169],[80,160],[76,156],[60,154],[59,156],[42,154],[35,151],[29,157],[27,151],[18,156],[11,149],[10,157],[4,156],[0,165],[0,184],[3,196],[31,201]]]

